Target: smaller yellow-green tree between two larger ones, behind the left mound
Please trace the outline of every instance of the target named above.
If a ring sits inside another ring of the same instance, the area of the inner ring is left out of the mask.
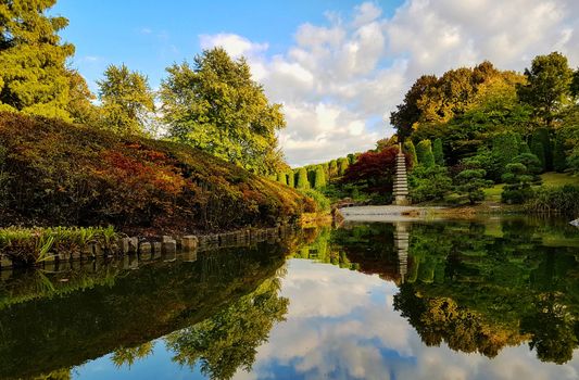
[[[123,64],[110,65],[99,85],[104,126],[122,134],[143,134],[154,112],[154,94],[148,79]]]

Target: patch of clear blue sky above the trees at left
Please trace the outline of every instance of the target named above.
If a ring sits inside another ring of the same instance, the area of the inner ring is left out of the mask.
[[[393,12],[401,1],[382,2]],[[349,15],[360,1],[59,0],[52,14],[65,16],[63,39],[76,46],[73,65],[95,81],[108,64],[127,64],[153,87],[174,62],[201,51],[201,35],[236,34],[284,53],[304,23],[320,24],[327,12]],[[95,89],[96,87],[92,86]]]

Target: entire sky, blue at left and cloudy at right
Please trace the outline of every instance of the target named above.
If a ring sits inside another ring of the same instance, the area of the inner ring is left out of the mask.
[[[374,148],[421,74],[492,61],[523,71],[557,50],[579,65],[577,0],[164,1],[59,0],[73,65],[95,89],[126,63],[153,88],[174,62],[224,47],[284,104],[288,162],[303,165]]]

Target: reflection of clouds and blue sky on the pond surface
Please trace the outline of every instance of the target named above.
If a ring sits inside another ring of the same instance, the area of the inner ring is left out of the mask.
[[[494,358],[427,347],[393,311],[398,288],[376,276],[292,259],[282,280],[287,321],[259,349],[240,379],[579,379],[579,352],[567,365],[541,363],[524,344]]]

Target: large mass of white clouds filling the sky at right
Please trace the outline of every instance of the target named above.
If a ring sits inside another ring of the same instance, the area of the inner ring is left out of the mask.
[[[392,16],[364,2],[350,15],[328,10],[326,17],[299,26],[293,46],[274,56],[267,43],[235,34],[200,36],[202,48],[247,56],[269,99],[285,105],[280,141],[292,165],[374,148],[391,134],[390,112],[421,74],[483,60],[521,72],[554,50],[579,64],[575,0],[406,0]]]

